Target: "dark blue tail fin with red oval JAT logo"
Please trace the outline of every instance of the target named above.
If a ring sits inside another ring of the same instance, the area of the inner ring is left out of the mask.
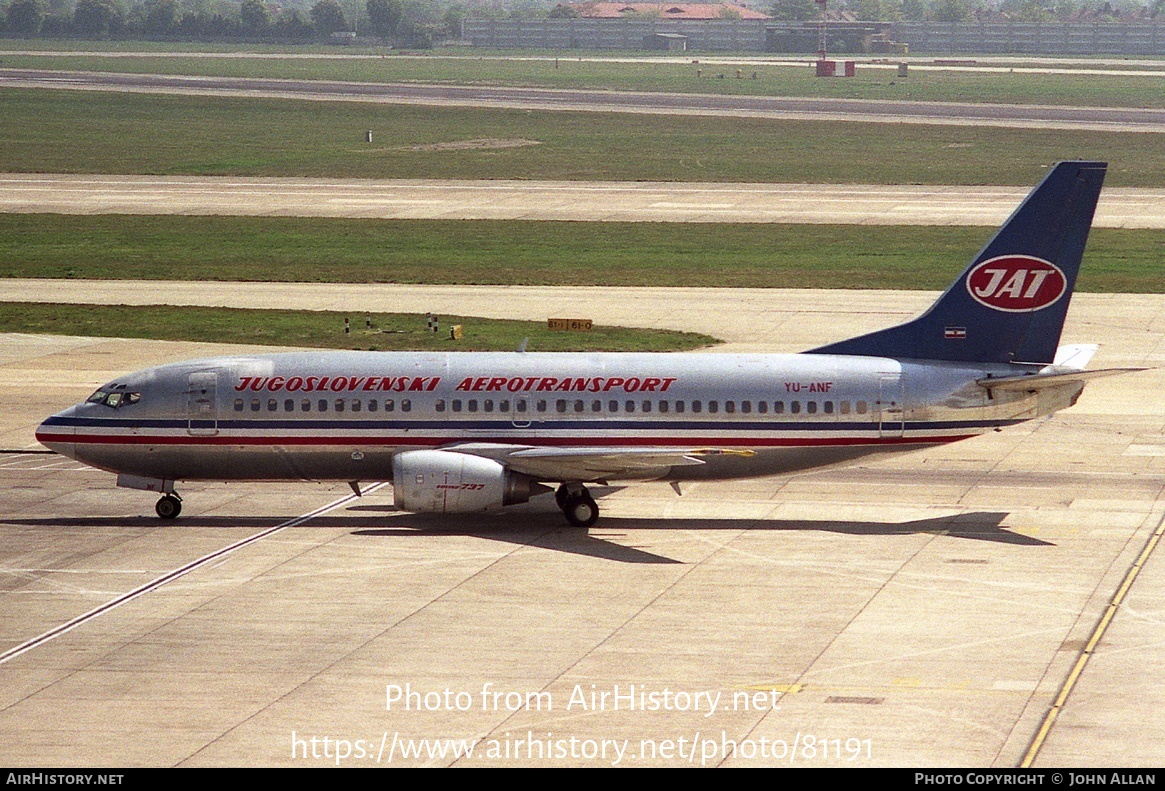
[[[1106,168],[1057,164],[930,310],[812,353],[1052,362]]]

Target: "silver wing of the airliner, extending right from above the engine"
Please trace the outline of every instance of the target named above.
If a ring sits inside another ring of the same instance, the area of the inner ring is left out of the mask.
[[[701,457],[751,451],[676,447],[543,447],[494,443],[463,443],[443,450],[482,455],[539,481],[650,480],[672,467],[701,465]]]

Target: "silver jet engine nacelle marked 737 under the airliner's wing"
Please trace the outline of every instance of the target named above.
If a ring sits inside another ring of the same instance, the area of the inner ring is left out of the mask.
[[[393,497],[417,514],[478,514],[528,501],[550,488],[493,459],[456,451],[405,451],[393,457]]]

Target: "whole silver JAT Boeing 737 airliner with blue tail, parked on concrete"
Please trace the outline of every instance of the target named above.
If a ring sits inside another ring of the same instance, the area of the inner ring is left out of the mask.
[[[556,488],[774,475],[966,439],[1075,403],[1094,346],[1059,347],[1106,164],[1062,162],[923,316],[802,354],[303,352],[120,376],[37,439],[158,492],[181,480],[391,480],[409,511]]]

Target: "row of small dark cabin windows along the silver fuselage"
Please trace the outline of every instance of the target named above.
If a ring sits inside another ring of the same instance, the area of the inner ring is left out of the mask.
[[[297,410],[301,412],[326,412],[330,410],[334,412],[379,412],[381,411],[381,405],[383,405],[383,411],[386,412],[396,411],[397,408],[397,403],[394,398],[386,398],[383,402],[375,398],[367,402],[360,401],[359,398],[334,398],[331,401],[327,398],[301,398],[298,401],[295,398],[284,398],[282,403],[284,412],[294,412]],[[496,402],[493,398],[483,398],[481,401],[478,398],[469,398],[467,401],[453,398],[450,402],[446,402],[445,398],[438,398],[436,403],[436,410],[438,412],[444,412],[446,409],[451,409],[454,412],[509,412],[511,407],[515,412],[525,412],[528,409],[527,401],[524,398],[518,398],[513,403],[508,398]],[[817,401],[806,401],[804,403],[800,401],[790,401],[788,403],[784,401],[774,401],[770,405],[770,402],[768,401],[757,401],[755,404],[751,401],[725,401],[721,404],[720,401],[636,401],[634,398],[627,398],[624,401],[620,401],[617,398],[610,398],[607,401],[603,401],[602,398],[558,398],[555,401],[553,409],[559,415],[565,415],[567,412],[599,414],[605,409],[607,412],[612,414],[620,411],[628,414],[636,411],[647,414],[655,410],[662,415],[666,415],[669,412],[682,415],[687,411],[691,411],[692,414],[700,414],[707,410],[709,415],[716,415],[720,412],[721,407],[723,408],[723,412],[726,415],[735,415],[737,412],[741,415],[751,415],[754,409],[757,415],[768,415],[770,409],[774,415],[866,415],[869,411],[869,404],[864,401],[857,401],[853,404],[848,401],[822,401],[820,403]],[[412,411],[412,402],[409,398],[402,398],[400,408],[402,412]],[[243,398],[235,398],[234,411],[241,412],[245,411],[245,409],[246,401]],[[262,398],[252,398],[250,411],[259,412],[262,410]],[[534,410],[536,412],[550,411],[550,402],[545,400],[536,401],[534,402]],[[267,411],[280,411],[280,400],[268,398]]]

